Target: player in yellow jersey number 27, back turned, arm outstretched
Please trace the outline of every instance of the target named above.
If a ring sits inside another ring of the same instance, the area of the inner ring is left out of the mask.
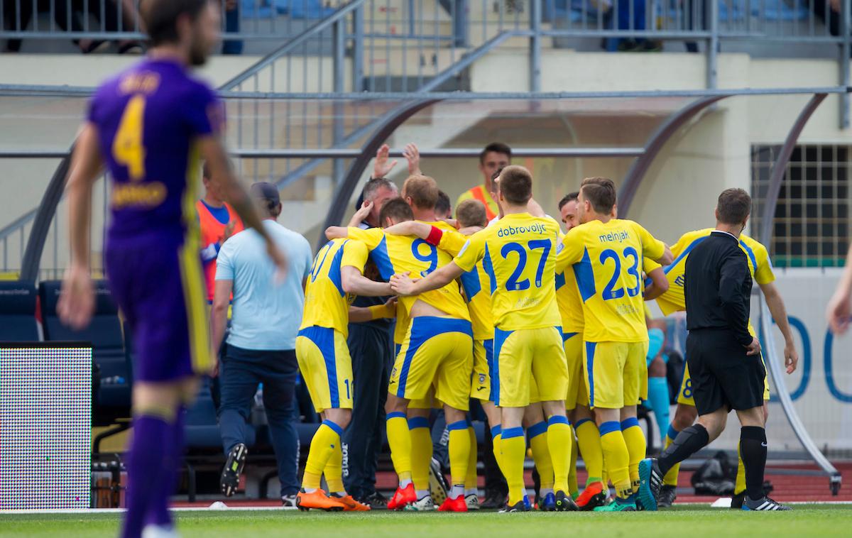
[[[521,421],[535,379],[548,420],[548,445],[556,474],[557,497],[567,496],[571,428],[565,415],[568,376],[556,306],[554,248],[556,221],[533,217],[527,203],[533,178],[527,169],[509,166],[499,177],[504,218],[471,236],[455,260],[412,280],[397,274],[391,287],[401,296],[441,289],[480,260],[489,276],[494,318],[494,400],[501,409],[500,446],[509,483],[507,512],[529,510],[524,502],[523,461],[527,444]]]

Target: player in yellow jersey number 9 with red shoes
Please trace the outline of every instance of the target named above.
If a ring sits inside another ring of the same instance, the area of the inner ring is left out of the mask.
[[[426,176],[406,180],[403,200],[390,200],[382,208],[383,225],[389,226],[412,216],[434,219],[438,186]],[[402,209],[405,208],[406,214]],[[412,211],[417,213],[412,215]],[[430,222],[435,226],[451,226]],[[329,238],[347,235],[366,243],[371,258],[383,278],[394,272],[412,272],[425,276],[452,258],[421,238],[386,235],[382,230],[360,230],[332,226]],[[435,388],[435,398],[444,404],[450,431],[450,473],[452,492],[439,510],[466,512],[464,479],[467,473],[470,438],[465,412],[469,409],[469,379],[473,363],[472,328],[468,308],[458,284],[448,283],[435,289],[400,300],[411,318],[406,341],[391,372],[387,411],[388,439],[394,468],[400,477],[400,488],[389,502],[390,509],[403,508],[417,501],[412,484],[412,438],[406,421],[408,403],[421,399]]]

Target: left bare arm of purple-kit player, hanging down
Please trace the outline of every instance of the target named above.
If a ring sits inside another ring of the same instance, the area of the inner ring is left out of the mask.
[[[71,239],[71,266],[62,282],[56,310],[62,323],[73,329],[89,324],[95,309],[95,295],[89,276],[89,228],[92,220],[92,185],[103,168],[98,132],[94,123],[83,124],[77,137],[68,173],[68,232]]]

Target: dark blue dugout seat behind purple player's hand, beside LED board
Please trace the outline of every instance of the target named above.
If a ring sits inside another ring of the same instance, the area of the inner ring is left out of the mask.
[[[124,352],[118,307],[112,300],[107,282],[95,281],[95,313],[89,327],[80,331],[66,327],[56,314],[60,287],[59,280],[43,281],[39,286],[44,340],[91,342],[101,376],[92,416],[95,425],[110,424],[115,418],[130,416],[130,368]]]

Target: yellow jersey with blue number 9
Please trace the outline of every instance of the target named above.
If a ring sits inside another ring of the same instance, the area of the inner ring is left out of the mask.
[[[412,279],[423,278],[452,261],[451,255],[421,238],[386,234],[381,228],[361,230],[349,227],[347,230],[348,238],[366,244],[372,260],[376,262],[378,271],[385,280],[390,280],[391,276],[398,272],[409,272]],[[405,306],[406,314],[412,311],[417,300],[423,300],[453,318],[470,320],[468,307],[458,290],[458,283],[451,282],[443,288],[415,297],[403,297],[400,303]]]

